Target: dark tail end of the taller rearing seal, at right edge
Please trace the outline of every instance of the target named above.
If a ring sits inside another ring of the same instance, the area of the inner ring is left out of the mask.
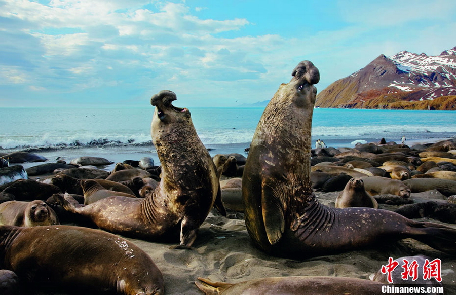
[[[411,238],[439,251],[456,255],[456,229],[435,223],[416,222]]]

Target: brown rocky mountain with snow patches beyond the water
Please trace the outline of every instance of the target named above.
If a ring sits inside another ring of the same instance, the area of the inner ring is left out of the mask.
[[[316,107],[456,110],[456,47],[380,55],[317,95]]]

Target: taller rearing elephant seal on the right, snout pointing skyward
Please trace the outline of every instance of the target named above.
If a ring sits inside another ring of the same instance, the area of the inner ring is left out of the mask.
[[[456,253],[456,230],[372,208],[320,204],[310,182],[311,125],[318,69],[299,63],[265,108],[250,145],[242,194],[253,243],[293,259],[414,238]],[[366,227],[375,224],[375,227]]]

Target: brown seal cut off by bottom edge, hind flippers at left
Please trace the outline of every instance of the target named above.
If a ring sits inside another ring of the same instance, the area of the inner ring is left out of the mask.
[[[366,295],[381,294],[383,283],[346,277],[275,277],[237,284],[198,278],[197,287],[206,295]]]

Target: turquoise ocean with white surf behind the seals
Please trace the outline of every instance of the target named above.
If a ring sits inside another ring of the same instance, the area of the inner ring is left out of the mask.
[[[248,148],[264,108],[189,109],[210,154],[241,153]],[[71,158],[117,154],[111,161],[158,161],[150,139],[153,107],[0,108],[0,153],[26,150],[45,157]],[[385,138],[406,143],[456,137],[456,113],[428,110],[314,109],[312,140],[327,146]],[[127,157],[122,159],[121,157]],[[138,158],[139,157],[139,158]],[[52,159],[55,160],[55,159]]]

